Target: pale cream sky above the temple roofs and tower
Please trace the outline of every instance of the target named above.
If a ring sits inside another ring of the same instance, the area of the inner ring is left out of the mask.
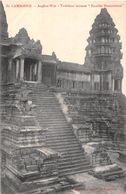
[[[25,27],[40,40],[43,53],[53,51],[62,61],[84,63],[89,31],[101,8],[107,8],[122,41],[123,92],[126,94],[126,3],[86,0],[3,0],[10,36]],[[25,7],[17,7],[25,6]],[[28,6],[28,7],[26,7]]]

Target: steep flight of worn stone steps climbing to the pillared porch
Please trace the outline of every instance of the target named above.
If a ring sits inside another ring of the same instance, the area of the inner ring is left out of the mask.
[[[46,146],[61,155],[58,162],[59,175],[62,177],[88,171],[91,166],[54,93],[42,83],[27,83],[27,89],[32,90],[30,98],[37,105],[39,124],[47,130]]]

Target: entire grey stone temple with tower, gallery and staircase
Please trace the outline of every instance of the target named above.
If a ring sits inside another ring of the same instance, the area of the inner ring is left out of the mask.
[[[83,65],[43,55],[24,28],[9,38],[2,2],[0,46],[3,194],[57,192],[79,184],[68,177],[82,172],[125,176],[108,154],[126,162],[121,42],[107,9],[95,18]]]

